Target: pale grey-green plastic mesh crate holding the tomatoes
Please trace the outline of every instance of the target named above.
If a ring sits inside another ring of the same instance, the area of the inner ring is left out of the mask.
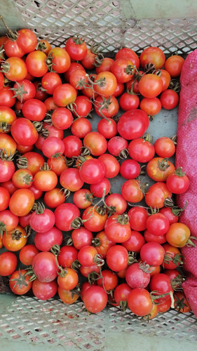
[[[140,53],[158,46],[165,54],[186,54],[197,48],[197,3],[192,0],[0,0],[1,14],[12,29],[29,27],[39,39],[64,46],[74,34],[100,44],[114,55],[128,46]],[[0,23],[0,32],[4,27]],[[93,121],[96,130],[97,119]],[[156,138],[177,129],[177,109],[161,111],[149,133]],[[120,178],[111,182],[121,189]],[[170,310],[147,324],[129,310],[108,307],[88,314],[83,303],[41,301],[0,295],[1,350],[197,350],[197,320],[192,312]]]

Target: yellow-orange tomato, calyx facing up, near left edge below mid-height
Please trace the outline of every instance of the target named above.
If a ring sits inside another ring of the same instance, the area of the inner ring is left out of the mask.
[[[18,232],[20,236],[18,236]],[[17,236],[15,238],[15,236]],[[20,225],[9,232],[3,234],[3,244],[9,251],[19,251],[27,243],[26,232]]]

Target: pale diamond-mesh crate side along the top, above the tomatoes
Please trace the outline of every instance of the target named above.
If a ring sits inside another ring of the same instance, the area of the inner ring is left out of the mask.
[[[165,53],[189,53],[197,48],[195,18],[136,20],[133,13],[127,20],[121,0],[13,2],[27,26],[53,46],[64,46],[69,37],[81,34],[108,53],[124,46],[137,53],[147,46],[159,46]]]

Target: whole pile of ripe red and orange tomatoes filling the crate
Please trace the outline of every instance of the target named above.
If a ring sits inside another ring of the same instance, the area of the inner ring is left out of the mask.
[[[0,44],[0,275],[15,294],[81,298],[93,313],[109,302],[153,318],[174,300],[189,311],[177,267],[193,242],[173,202],[189,179],[169,161],[173,140],[145,134],[178,104],[184,59],[149,47],[112,60],[81,37],[51,48],[30,29]]]

